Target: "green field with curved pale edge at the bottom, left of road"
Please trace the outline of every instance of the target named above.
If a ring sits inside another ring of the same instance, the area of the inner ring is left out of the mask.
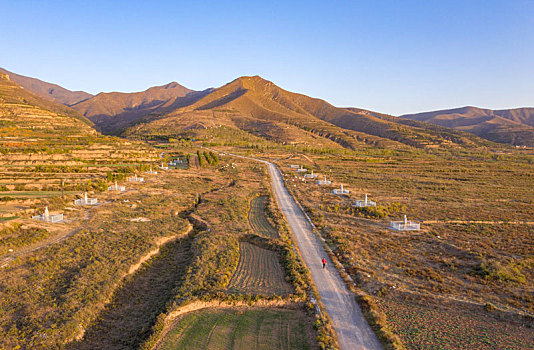
[[[184,315],[156,349],[317,349],[308,317],[300,310],[204,309]]]

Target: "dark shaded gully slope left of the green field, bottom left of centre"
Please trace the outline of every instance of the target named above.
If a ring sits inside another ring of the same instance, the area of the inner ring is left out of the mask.
[[[187,237],[163,246],[160,254],[123,283],[84,338],[67,349],[137,349],[181,283],[190,246]]]

